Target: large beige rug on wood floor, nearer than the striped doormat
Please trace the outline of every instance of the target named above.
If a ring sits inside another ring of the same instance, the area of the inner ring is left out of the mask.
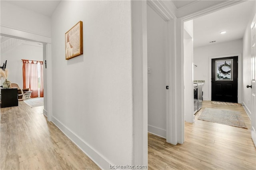
[[[247,128],[240,112],[237,111],[205,108],[198,119],[233,127]]]

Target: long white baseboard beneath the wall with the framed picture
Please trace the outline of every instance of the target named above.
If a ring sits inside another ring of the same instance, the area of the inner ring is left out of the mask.
[[[104,156],[98,153],[94,148],[92,148],[88,143],[82,140],[78,135],[76,135],[72,130],[63,125],[58,119],[52,116],[52,123],[56,125],[78,148],[80,148],[96,165],[101,169],[109,169],[110,164],[114,165],[112,162],[108,161]]]

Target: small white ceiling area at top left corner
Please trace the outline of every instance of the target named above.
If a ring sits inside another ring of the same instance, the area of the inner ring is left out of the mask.
[[[60,0],[9,0],[8,2],[51,17]]]

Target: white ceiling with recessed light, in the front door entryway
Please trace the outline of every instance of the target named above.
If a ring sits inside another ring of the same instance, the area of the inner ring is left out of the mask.
[[[242,39],[250,20],[252,0],[194,19],[194,47]],[[226,34],[220,34],[227,31]],[[216,41],[214,43],[209,43]]]

